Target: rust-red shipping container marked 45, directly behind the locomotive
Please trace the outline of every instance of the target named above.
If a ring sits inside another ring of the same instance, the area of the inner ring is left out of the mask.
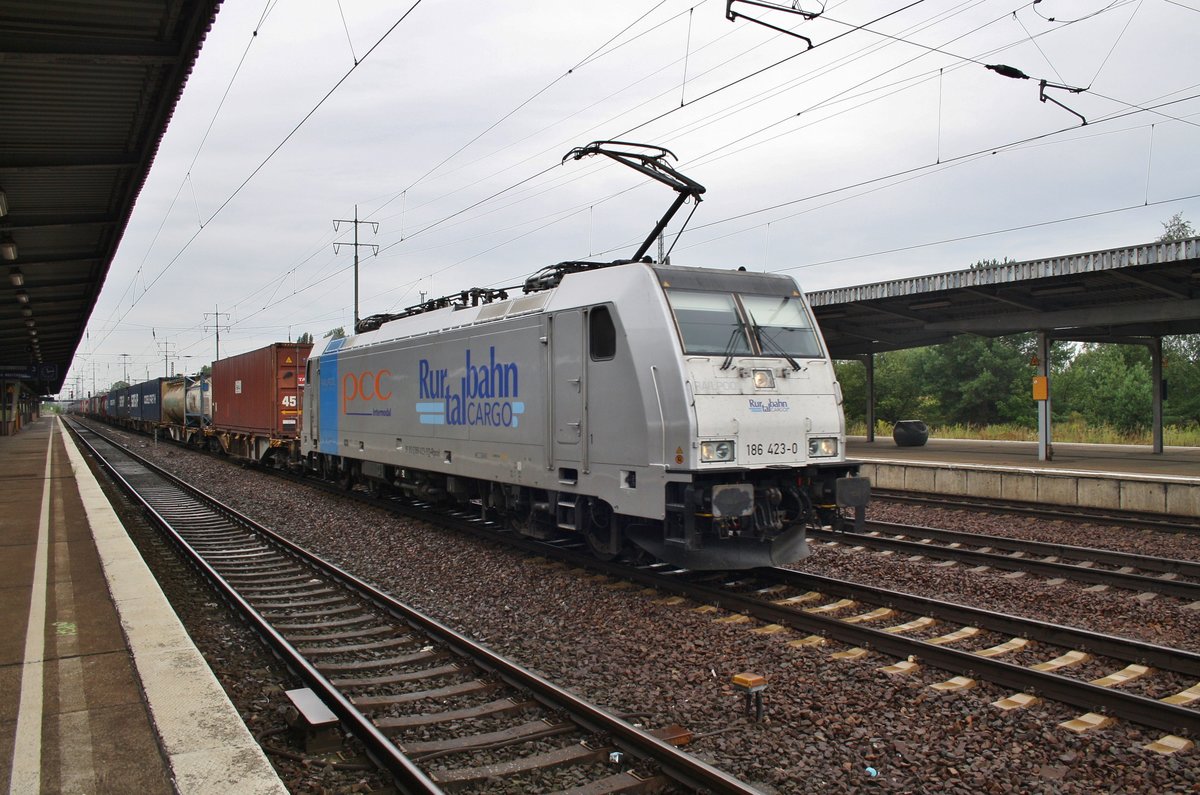
[[[296,438],[311,342],[276,342],[212,363],[212,428]]]

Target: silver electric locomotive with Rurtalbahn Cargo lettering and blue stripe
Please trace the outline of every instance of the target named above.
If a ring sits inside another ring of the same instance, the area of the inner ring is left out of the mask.
[[[331,340],[308,366],[313,471],[578,532],[605,557],[787,563],[808,555],[806,525],[860,520],[868,500],[790,277],[582,269]]]

